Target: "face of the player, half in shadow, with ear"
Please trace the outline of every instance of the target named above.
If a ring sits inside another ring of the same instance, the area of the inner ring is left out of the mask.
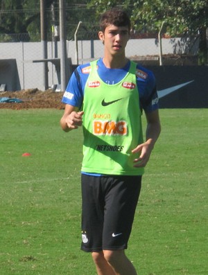
[[[104,33],[99,33],[99,38],[105,45],[105,51],[112,55],[125,54],[125,46],[129,39],[128,26],[109,25]]]

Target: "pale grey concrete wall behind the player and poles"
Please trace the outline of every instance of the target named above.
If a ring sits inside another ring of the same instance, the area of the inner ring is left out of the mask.
[[[188,44],[189,39],[162,39],[163,53],[186,53]],[[191,51],[193,54],[197,53],[198,45],[196,44]],[[73,41],[67,41],[67,55],[71,58],[72,64],[76,64]],[[130,58],[135,55],[159,55],[158,41],[157,39],[130,39],[126,46],[126,55]],[[32,88],[44,89],[44,64],[33,62],[41,60],[42,56],[41,42],[0,43],[0,85],[6,84],[12,91]],[[78,41],[79,64],[101,56],[103,56],[103,44],[100,40]],[[60,57],[60,43],[58,42],[56,46],[54,42],[48,42],[48,58],[55,57]],[[16,60],[16,72],[5,69],[5,66],[10,64],[9,60]],[[60,84],[58,66],[48,62],[48,69],[49,87],[53,84]],[[12,85],[10,85],[11,79]]]

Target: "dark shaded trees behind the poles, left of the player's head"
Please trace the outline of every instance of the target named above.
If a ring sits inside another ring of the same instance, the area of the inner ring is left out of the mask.
[[[44,0],[46,3],[46,26],[49,39],[52,38],[51,26],[59,25],[59,0]],[[73,39],[74,32],[79,21],[84,30],[83,37],[93,28],[91,12],[87,10],[87,0],[65,0],[67,39]],[[25,39],[37,41],[40,39],[40,0],[0,0],[0,34],[7,37],[13,34],[27,34]],[[81,32],[79,32],[79,35]],[[16,35],[17,37],[17,35]],[[90,35],[92,38],[92,36]],[[16,39],[16,41],[18,41]]]

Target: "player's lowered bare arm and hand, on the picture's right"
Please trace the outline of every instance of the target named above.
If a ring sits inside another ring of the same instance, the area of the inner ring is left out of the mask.
[[[146,141],[139,144],[137,148],[132,150],[132,153],[141,152],[139,158],[135,159],[135,167],[144,167],[150,159],[150,154],[154,148],[161,132],[161,125],[159,121],[158,110],[146,114],[147,127],[146,127]]]

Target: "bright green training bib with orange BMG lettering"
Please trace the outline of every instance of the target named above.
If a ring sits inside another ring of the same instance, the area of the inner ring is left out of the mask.
[[[123,80],[107,85],[91,62],[83,101],[83,172],[103,175],[142,175],[134,168],[139,155],[132,149],[143,143],[141,109],[135,62]]]

